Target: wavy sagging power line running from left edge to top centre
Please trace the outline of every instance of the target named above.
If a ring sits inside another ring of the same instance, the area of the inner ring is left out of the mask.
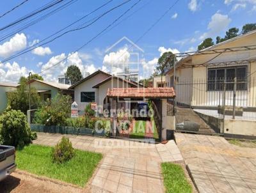
[[[72,32],[72,31],[77,31],[77,30],[81,30],[81,29],[84,29],[84,28],[86,28],[86,27],[89,27],[89,26],[91,26],[92,24],[94,24],[95,22],[97,22],[97,20],[99,20],[99,19],[101,19],[102,17],[104,17],[104,15],[106,15],[106,14],[112,12],[112,11],[115,10],[116,8],[119,8],[120,6],[123,6],[123,5],[126,4],[126,3],[129,3],[129,1],[131,1],[131,0],[124,1],[124,3],[118,4],[117,6],[111,8],[110,10],[108,10],[107,12],[102,13],[99,17],[97,17],[95,20],[93,20],[92,22],[90,22],[90,24],[88,24],[88,25],[86,25],[86,26],[78,27],[78,28],[75,28],[75,29],[71,29],[71,30],[69,30],[69,31],[65,31],[65,32],[62,33],[61,35],[58,35],[58,36],[56,36],[55,38],[52,38],[51,40],[49,40],[49,41],[47,41],[47,42],[45,42],[45,43],[41,43],[40,45],[38,45],[38,44],[39,44],[39,42],[38,42],[38,43],[36,43],[36,45],[37,45],[36,47],[40,47],[40,46],[45,45],[45,44],[47,44],[47,43],[53,42],[54,40],[60,38],[60,37],[63,36],[63,35],[66,35],[67,33],[70,33],[70,32]],[[110,3],[110,1],[109,1],[109,3]],[[105,5],[105,4],[104,4],[104,5]],[[101,6],[101,7],[102,7],[102,6]],[[97,10],[99,10],[99,8],[97,8]],[[95,12],[95,11],[93,11],[93,12]],[[88,14],[88,15],[89,15],[89,14]],[[81,20],[81,19],[79,19],[79,20]],[[75,23],[75,22],[73,22],[72,24],[74,24],[74,23]],[[69,26],[71,26],[71,24],[70,24]],[[67,28],[67,27],[64,27],[64,28]],[[64,29],[64,28],[63,28],[63,29]],[[61,29],[61,31],[62,31],[63,29]],[[60,31],[58,31],[58,32],[60,32]],[[56,33],[55,33],[55,34],[56,34]],[[55,34],[54,34],[54,35],[55,35]],[[48,37],[47,37],[47,38],[48,38]],[[45,39],[47,39],[47,38],[45,38]],[[45,39],[44,39],[44,40],[45,40]],[[44,40],[42,40],[42,41],[40,41],[40,42],[43,42]],[[29,51],[31,51],[31,50],[36,49],[35,45],[33,45],[33,46],[31,46],[31,47],[33,47],[33,48],[31,48],[31,49],[25,49],[26,51],[22,51],[20,54],[15,54],[15,56],[11,56],[10,58],[4,59],[3,61],[1,61],[1,63],[4,63],[4,62],[6,62],[6,61],[8,61],[8,60],[10,60],[10,59],[13,59],[13,58],[17,58],[18,56],[20,56],[20,55],[22,55],[22,54],[25,54],[25,53],[27,53],[27,52],[29,52]]]

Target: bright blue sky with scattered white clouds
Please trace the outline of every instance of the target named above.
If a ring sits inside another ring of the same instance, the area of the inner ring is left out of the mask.
[[[65,0],[64,2],[68,1],[70,0]],[[124,4],[124,6],[108,13],[108,15],[105,15],[105,17],[102,17],[102,19],[86,29],[68,33],[32,52],[1,63],[0,81],[17,82],[20,75],[28,75],[28,72],[38,73],[58,63],[58,61],[66,58],[68,54],[83,45],[83,43],[97,35],[97,33],[124,13],[136,1],[138,0],[132,0]],[[22,0],[0,1],[0,15],[21,2]],[[10,22],[49,2],[27,1],[13,12],[1,17],[0,27],[6,26]],[[124,0],[111,1],[107,6],[93,13],[90,17],[86,17],[86,19],[73,27],[93,19],[93,17],[106,12],[106,10],[122,2]],[[57,76],[65,73],[67,66],[72,64],[79,66],[83,73],[92,73],[97,69],[113,73],[118,72],[121,69],[117,64],[132,61],[132,57],[134,57],[132,56],[133,52],[140,54],[140,65],[145,70],[145,73],[140,72],[140,75],[147,77],[154,71],[157,59],[164,51],[186,52],[188,50],[196,50],[197,45],[204,38],[212,37],[215,40],[218,35],[224,36],[225,31],[230,27],[239,27],[241,29],[244,24],[255,22],[256,18],[255,0],[180,0],[147,35],[143,36],[139,42],[136,42],[147,31],[148,27],[154,24],[174,2],[170,0],[141,0],[122,19],[132,14],[131,17],[125,19],[118,26],[108,31],[108,33],[104,33],[104,35],[93,40],[93,42],[86,45],[79,52],[72,54],[60,65],[52,67],[51,70],[45,70],[42,73],[44,79],[56,81]],[[0,61],[26,49],[33,42],[38,42],[38,40],[52,35],[52,33],[83,17],[104,3],[106,1],[74,1],[73,4],[60,12],[54,13],[47,19],[20,31],[10,38],[2,40],[0,42]],[[24,24],[26,22],[21,23],[20,26]],[[12,33],[13,29],[16,28],[0,31],[0,39],[4,35]],[[72,27],[68,29],[72,29]],[[106,52],[111,45],[124,36],[132,42],[136,42],[136,45],[143,52],[135,47],[131,47],[132,44],[127,40],[118,43],[113,49]]]

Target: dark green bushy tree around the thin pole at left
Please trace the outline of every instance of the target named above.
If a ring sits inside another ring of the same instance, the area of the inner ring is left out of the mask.
[[[26,82],[20,82],[17,91],[7,93],[8,105],[11,109],[27,114],[29,110],[29,89]],[[41,99],[35,88],[30,89],[31,109],[40,107]]]

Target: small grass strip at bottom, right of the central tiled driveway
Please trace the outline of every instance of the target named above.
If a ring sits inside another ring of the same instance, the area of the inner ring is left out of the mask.
[[[164,176],[164,187],[167,193],[172,192],[192,192],[192,186],[186,179],[184,171],[178,164],[162,163]]]

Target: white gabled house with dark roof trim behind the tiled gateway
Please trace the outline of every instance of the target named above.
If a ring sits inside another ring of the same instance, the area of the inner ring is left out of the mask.
[[[106,97],[108,89],[131,87],[143,86],[98,70],[70,86],[70,89],[74,89],[74,100],[78,105],[80,114],[84,112],[86,105],[90,104],[90,102],[95,102],[99,107],[99,112],[97,113],[102,114],[104,108],[109,108],[109,100]]]

